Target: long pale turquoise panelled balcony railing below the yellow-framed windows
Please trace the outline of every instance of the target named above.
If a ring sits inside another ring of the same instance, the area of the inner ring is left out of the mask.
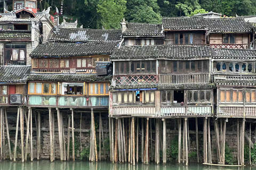
[[[33,95],[28,97],[28,105],[37,106],[69,106],[69,107],[79,107],[79,106],[108,106],[109,97],[85,97],[85,96],[41,96]]]

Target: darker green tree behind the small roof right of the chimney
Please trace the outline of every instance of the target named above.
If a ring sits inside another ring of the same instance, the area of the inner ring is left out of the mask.
[[[161,22],[162,16],[159,12],[157,0],[127,1],[125,19],[131,22]]]

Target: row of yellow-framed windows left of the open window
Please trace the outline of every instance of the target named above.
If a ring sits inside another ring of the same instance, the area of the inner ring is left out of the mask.
[[[57,95],[56,83],[28,83],[28,94]]]

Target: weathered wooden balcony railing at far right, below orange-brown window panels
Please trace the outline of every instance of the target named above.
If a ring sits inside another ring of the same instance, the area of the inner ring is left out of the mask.
[[[218,117],[252,117],[256,116],[256,105],[225,105],[219,106]]]

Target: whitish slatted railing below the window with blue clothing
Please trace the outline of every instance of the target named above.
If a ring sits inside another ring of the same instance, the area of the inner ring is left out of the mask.
[[[113,116],[155,116],[155,106],[114,106]]]

